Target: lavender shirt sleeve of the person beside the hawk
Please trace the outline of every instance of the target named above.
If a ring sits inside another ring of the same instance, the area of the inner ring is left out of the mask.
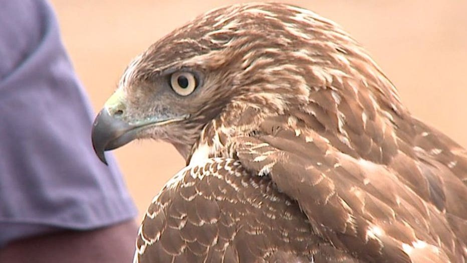
[[[0,0],[0,246],[133,218],[113,158],[92,150],[94,116],[42,0]]]

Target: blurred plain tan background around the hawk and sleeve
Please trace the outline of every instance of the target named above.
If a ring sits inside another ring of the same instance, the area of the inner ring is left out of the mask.
[[[211,8],[246,1],[53,0],[65,45],[100,109],[130,59]],[[288,1],[341,24],[420,119],[467,146],[467,1]],[[184,164],[165,143],[115,151],[140,215]]]

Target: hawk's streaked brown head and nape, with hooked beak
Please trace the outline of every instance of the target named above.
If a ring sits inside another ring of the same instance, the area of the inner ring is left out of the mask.
[[[249,133],[253,119],[238,123],[249,111],[284,114],[309,104],[319,90],[339,89],[344,81],[389,89],[375,92],[378,102],[399,105],[377,66],[334,23],[281,4],[217,9],[130,63],[94,122],[94,149],[105,162],[104,151],[153,138],[173,144],[187,159],[215,119],[224,124],[214,128],[222,125],[227,134],[231,130],[225,123]]]

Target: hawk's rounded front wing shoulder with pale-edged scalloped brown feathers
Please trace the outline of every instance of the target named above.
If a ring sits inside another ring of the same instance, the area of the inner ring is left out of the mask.
[[[154,198],[135,262],[307,262],[316,253],[315,262],[358,261],[317,236],[270,178],[215,158],[186,167]]]

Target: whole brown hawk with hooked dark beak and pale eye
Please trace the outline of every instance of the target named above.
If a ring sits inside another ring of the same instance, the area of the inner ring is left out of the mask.
[[[186,160],[135,262],[465,262],[467,152],[413,117],[341,27],[283,4],[208,12],[137,56],[96,117]]]

